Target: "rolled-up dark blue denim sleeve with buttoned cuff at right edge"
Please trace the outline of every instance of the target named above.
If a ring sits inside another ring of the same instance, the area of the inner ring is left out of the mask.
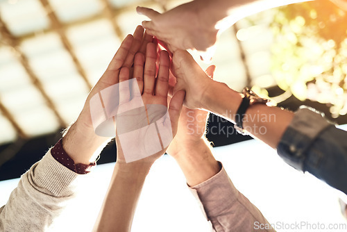
[[[312,108],[300,108],[283,134],[278,155],[347,194],[347,132]]]

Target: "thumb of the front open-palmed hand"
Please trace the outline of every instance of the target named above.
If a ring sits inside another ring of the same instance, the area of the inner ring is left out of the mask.
[[[177,133],[178,119],[180,118],[180,112],[182,111],[183,101],[185,99],[185,91],[180,90],[176,92],[174,97],[172,97],[169,105],[169,115],[171,121],[172,135],[173,137]]]

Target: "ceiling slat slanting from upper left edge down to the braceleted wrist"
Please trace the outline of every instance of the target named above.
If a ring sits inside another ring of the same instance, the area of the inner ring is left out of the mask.
[[[15,52],[17,53],[17,57],[19,59],[19,62],[22,64],[22,66],[26,70],[26,73],[28,74],[29,78],[31,79],[31,82],[33,83],[33,85],[35,85],[37,90],[39,90],[39,92],[42,94],[42,97],[46,101],[46,105],[51,110],[53,110],[53,113],[54,113],[54,115],[56,115],[60,126],[65,127],[67,125],[67,123],[64,121],[64,119],[62,119],[62,117],[61,117],[60,113],[58,113],[58,110],[57,110],[56,106],[54,105],[53,101],[49,98],[48,94],[46,94],[46,91],[44,90],[40,79],[37,78],[35,72],[33,72],[33,69],[31,69],[31,66],[28,63],[28,58],[20,49],[18,40],[11,35],[10,31],[8,31],[8,28],[3,23],[1,18],[0,18],[0,32],[1,32],[1,35],[3,37],[4,42],[6,42],[6,44],[8,44],[10,47],[12,47],[12,49],[15,49]]]

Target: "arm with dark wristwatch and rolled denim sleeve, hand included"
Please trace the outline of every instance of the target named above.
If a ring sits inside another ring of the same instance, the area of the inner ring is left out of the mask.
[[[175,91],[186,90],[185,105],[204,108],[230,122],[242,97],[228,85],[212,81],[186,51],[176,51],[173,72]],[[292,113],[282,108],[252,105],[246,110],[244,128],[274,149],[289,165],[310,172],[342,192],[347,192],[346,131],[337,129],[312,110]]]

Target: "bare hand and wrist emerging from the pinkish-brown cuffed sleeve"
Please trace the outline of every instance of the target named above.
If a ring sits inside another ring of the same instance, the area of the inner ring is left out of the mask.
[[[209,78],[213,77],[214,68],[212,65],[206,69]],[[167,149],[167,153],[174,157],[185,174],[189,186],[203,183],[221,169],[205,138],[207,117],[208,112],[205,110],[192,110],[183,106],[176,137]]]

